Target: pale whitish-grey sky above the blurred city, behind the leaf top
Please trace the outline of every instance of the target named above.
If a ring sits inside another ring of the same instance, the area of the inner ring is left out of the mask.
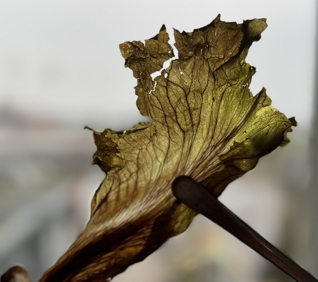
[[[78,127],[128,129],[146,120],[119,44],[154,36],[164,23],[192,31],[213,20],[267,18],[247,62],[250,89],[310,126],[316,3],[306,1],[0,1],[0,106]]]

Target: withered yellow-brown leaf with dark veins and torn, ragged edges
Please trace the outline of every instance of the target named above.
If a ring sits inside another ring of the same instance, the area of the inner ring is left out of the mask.
[[[173,57],[163,25],[146,40],[120,44],[137,79],[137,107],[153,122],[127,131],[94,132],[94,163],[107,173],[92,200],[91,219],[40,281],[104,281],[182,233],[196,215],[176,201],[171,183],[189,175],[213,195],[288,142],[294,119],[249,90],[245,62],[265,19],[226,23],[218,16],[193,32],[174,31]]]

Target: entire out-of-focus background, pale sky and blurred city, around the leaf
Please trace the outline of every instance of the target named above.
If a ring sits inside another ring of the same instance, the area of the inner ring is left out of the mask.
[[[318,276],[314,0],[1,0],[0,274],[20,264],[37,281],[85,228],[104,173],[91,165],[96,148],[84,126],[124,130],[147,121],[119,44],[150,38],[163,23],[173,37],[173,27],[192,31],[218,13],[238,23],[267,18],[246,59],[257,69],[250,89],[266,87],[273,106],[298,121],[287,147],[261,158],[219,199]],[[292,280],[198,215],[113,281]]]

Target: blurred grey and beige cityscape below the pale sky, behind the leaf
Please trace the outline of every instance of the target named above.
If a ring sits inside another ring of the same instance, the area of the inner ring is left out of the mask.
[[[0,129],[0,273],[22,264],[37,281],[85,228],[89,202],[103,173],[90,164],[93,138],[88,130],[8,107],[1,108]],[[310,257],[308,245],[308,132],[295,129],[289,137],[292,142],[286,148],[263,157],[255,169],[231,183],[220,200],[309,269],[318,257]],[[128,278],[292,281],[201,215],[185,233],[114,281]]]

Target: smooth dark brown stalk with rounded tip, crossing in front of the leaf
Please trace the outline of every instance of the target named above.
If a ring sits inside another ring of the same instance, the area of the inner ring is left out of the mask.
[[[187,176],[176,178],[172,183],[172,193],[178,200],[224,228],[296,281],[318,281],[239,219],[192,178]]]

